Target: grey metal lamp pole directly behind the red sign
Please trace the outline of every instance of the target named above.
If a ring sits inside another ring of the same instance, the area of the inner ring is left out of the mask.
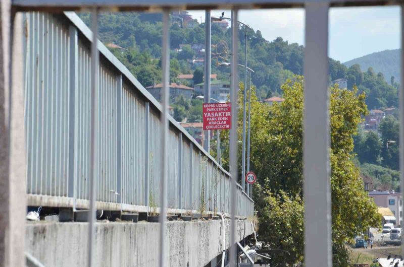
[[[211,11],[205,11],[205,103],[211,103]],[[205,131],[204,149],[211,147],[210,130]]]

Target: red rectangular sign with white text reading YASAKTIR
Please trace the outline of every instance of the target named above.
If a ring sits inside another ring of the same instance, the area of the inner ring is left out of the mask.
[[[231,129],[231,103],[204,103],[204,130]]]

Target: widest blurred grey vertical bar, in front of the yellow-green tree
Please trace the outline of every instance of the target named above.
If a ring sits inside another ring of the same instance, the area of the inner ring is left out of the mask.
[[[303,169],[305,265],[331,266],[328,3],[306,4]]]

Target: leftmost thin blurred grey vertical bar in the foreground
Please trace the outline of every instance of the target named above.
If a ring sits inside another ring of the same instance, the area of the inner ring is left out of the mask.
[[[95,241],[95,179],[96,179],[96,153],[97,153],[97,135],[95,128],[98,126],[98,8],[93,7],[91,11],[92,17],[92,43],[91,43],[91,118],[90,118],[90,210],[88,216],[88,267],[94,264],[94,241]]]

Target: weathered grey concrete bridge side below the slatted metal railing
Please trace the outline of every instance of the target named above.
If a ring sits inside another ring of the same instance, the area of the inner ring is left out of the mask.
[[[157,266],[159,223],[96,223],[94,266]],[[230,221],[226,220],[226,247]],[[251,222],[236,223],[237,240],[252,234]],[[166,266],[204,266],[222,250],[222,221],[167,223]],[[26,251],[45,266],[85,266],[87,223],[28,223]]]

